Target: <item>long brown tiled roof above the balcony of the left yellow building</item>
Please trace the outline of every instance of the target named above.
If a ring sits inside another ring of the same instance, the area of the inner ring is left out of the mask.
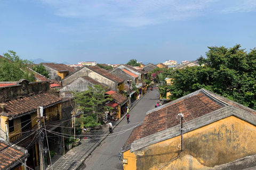
[[[50,92],[21,97],[6,101],[6,113],[1,113],[4,116],[20,116],[36,112],[37,107],[50,107],[61,102],[61,98],[51,94]]]

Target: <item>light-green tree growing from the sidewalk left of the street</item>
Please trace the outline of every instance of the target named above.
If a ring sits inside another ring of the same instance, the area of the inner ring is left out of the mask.
[[[82,92],[73,92],[75,104],[82,109],[85,114],[95,116],[95,122],[98,123],[99,118],[102,116],[109,106],[105,106],[105,103],[111,100],[110,95],[106,95],[107,88],[103,88],[100,84],[94,85],[89,90]]]

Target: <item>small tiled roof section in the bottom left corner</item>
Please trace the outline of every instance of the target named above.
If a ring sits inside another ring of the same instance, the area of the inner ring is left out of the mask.
[[[0,169],[11,169],[13,164],[20,163],[20,160],[28,157],[24,148],[10,145],[10,142],[0,139]]]

